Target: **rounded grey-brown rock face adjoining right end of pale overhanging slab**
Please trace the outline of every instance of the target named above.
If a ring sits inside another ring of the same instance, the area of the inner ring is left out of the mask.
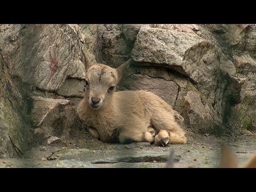
[[[202,92],[212,105],[220,101],[224,91],[221,87],[225,86],[226,82],[219,81],[219,78],[234,74],[233,63],[217,46],[208,42],[191,47],[183,60],[183,68],[195,82],[198,91]],[[217,110],[221,110],[220,103],[218,104]]]

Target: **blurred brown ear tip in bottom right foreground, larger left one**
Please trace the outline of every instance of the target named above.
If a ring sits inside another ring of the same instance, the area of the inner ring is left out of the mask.
[[[235,168],[237,166],[235,155],[231,152],[229,146],[225,143],[222,143],[221,146],[221,168]]]

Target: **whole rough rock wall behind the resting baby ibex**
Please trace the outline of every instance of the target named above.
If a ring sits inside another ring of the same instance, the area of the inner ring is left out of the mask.
[[[112,67],[132,58],[118,90],[156,93],[185,118],[186,130],[254,131],[255,31],[241,24],[0,25],[0,157],[22,156],[38,143],[88,144],[76,114],[81,49]]]

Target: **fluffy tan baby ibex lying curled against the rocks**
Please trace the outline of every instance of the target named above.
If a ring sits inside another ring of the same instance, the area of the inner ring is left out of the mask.
[[[185,132],[175,121],[175,117],[183,117],[160,97],[142,90],[115,92],[131,59],[117,69],[92,65],[82,50],[81,61],[86,69],[86,90],[77,112],[94,138],[103,142],[155,142],[159,146],[186,143]]]

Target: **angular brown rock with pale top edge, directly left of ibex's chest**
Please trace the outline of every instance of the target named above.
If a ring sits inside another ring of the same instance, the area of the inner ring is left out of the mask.
[[[35,119],[36,140],[42,145],[65,142],[78,142],[88,139],[88,132],[79,119],[76,106],[69,100],[33,97],[34,106],[31,116]],[[38,132],[38,131],[37,131]]]

